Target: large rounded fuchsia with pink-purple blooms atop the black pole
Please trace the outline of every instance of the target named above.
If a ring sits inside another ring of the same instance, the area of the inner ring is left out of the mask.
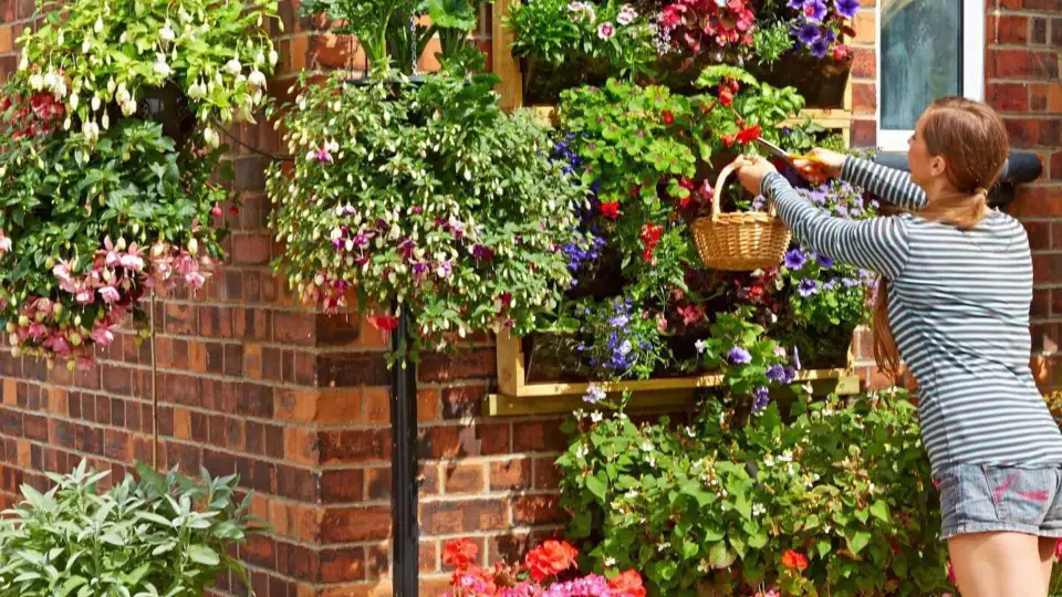
[[[333,76],[301,92],[280,121],[299,158],[268,175],[285,243],[275,266],[300,296],[334,312],[351,290],[363,311],[409,310],[414,353],[476,331],[523,334],[556,305],[584,191],[530,113],[499,108],[494,82]]]

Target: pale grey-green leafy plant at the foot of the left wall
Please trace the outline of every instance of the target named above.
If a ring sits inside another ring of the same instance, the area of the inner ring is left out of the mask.
[[[233,503],[237,478],[137,473],[101,493],[108,472],[82,461],[49,473],[48,493],[23,485],[25,501],[0,519],[0,596],[197,597],[227,572],[250,586],[229,551],[262,528],[250,495]]]

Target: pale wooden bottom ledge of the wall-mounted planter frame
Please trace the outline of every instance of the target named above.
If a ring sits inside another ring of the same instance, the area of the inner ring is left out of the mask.
[[[485,398],[483,415],[506,417],[512,415],[548,415],[571,412],[585,407],[583,395],[591,385],[610,394],[625,390],[634,392],[631,406],[639,409],[668,409],[689,405],[697,390],[718,386],[722,376],[717,374],[688,377],[665,377],[636,381],[608,383],[527,383],[524,355],[520,338],[509,334],[498,336],[498,394]],[[860,391],[860,378],[851,369],[810,369],[798,376],[812,384],[813,394],[840,394],[851,396]]]

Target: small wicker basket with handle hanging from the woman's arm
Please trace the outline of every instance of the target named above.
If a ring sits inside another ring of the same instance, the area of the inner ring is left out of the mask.
[[[778,265],[792,234],[778,219],[774,206],[768,213],[720,213],[722,188],[735,170],[736,165],[730,164],[719,172],[711,216],[694,220],[691,229],[697,252],[705,266],[712,270],[748,272]]]

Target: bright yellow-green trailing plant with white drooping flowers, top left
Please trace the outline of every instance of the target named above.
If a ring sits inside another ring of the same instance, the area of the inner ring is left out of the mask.
[[[210,123],[253,122],[279,56],[270,40],[277,1],[112,0],[45,3],[44,23],[27,28],[15,78],[25,95],[49,94],[95,142],[145,96],[175,86],[190,100],[205,140]],[[116,108],[116,109],[115,109]]]

